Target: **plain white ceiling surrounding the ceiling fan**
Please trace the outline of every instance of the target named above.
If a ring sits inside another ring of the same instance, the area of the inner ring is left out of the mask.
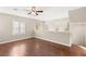
[[[69,11],[77,8],[79,7],[36,7],[36,10],[42,10],[44,12],[35,16],[27,14],[26,10],[29,9],[29,7],[1,7],[0,13],[13,14],[39,21],[51,21],[54,18],[69,17]]]

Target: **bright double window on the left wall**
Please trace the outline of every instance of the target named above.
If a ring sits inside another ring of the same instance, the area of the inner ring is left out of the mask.
[[[25,34],[25,22],[13,22],[13,31],[12,34],[15,35],[24,35]]]

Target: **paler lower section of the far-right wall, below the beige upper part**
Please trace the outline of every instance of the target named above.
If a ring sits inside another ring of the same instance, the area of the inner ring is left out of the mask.
[[[85,27],[86,23],[71,23],[71,43],[85,46]]]

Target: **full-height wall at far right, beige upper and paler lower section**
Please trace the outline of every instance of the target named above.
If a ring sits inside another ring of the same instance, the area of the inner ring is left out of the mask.
[[[86,46],[86,8],[70,11],[71,43]]]

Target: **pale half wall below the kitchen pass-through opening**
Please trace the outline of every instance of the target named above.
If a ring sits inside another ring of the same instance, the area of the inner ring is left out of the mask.
[[[36,37],[56,43],[70,46],[70,35],[66,33],[37,31]]]

